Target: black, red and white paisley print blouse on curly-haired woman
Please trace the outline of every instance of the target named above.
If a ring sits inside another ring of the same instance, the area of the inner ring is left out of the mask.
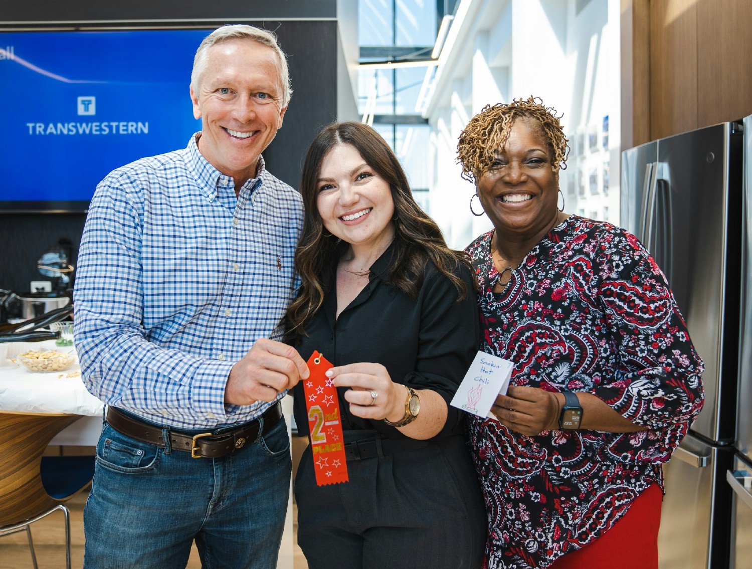
[[[487,567],[548,567],[608,531],[650,484],[663,489],[661,463],[702,408],[702,361],[666,277],[634,235],[570,216],[499,294],[492,235],[467,248],[483,350],[514,362],[512,385],[590,392],[644,427],[526,437],[472,417]]]

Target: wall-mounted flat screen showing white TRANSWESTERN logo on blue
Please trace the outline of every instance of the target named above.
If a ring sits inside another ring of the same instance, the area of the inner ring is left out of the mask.
[[[184,148],[208,29],[0,32],[0,211],[86,211],[108,172]]]

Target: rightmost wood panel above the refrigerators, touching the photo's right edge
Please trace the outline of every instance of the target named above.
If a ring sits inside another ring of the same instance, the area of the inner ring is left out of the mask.
[[[752,114],[752,2],[697,5],[698,126]]]

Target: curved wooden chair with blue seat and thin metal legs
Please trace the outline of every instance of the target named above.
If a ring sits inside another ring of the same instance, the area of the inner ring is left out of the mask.
[[[42,456],[62,429],[80,416],[0,411],[0,536],[26,531],[37,569],[33,522],[62,510],[65,516],[65,562],[71,569],[71,523],[68,498],[94,474],[93,456]]]

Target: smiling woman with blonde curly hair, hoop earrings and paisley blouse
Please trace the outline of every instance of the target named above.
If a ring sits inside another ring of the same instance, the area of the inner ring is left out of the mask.
[[[486,567],[656,569],[661,464],[702,408],[666,277],[634,235],[558,209],[567,140],[540,99],[485,107],[458,153],[494,227],[467,247],[482,349],[514,364],[496,420],[469,422]]]

